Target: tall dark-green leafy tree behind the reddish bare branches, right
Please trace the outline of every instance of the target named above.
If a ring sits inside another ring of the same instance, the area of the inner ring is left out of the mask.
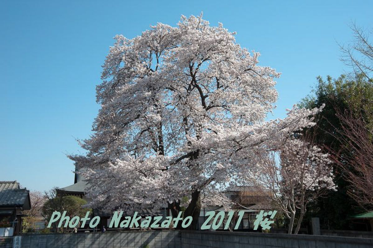
[[[355,116],[363,114],[367,125],[372,125],[372,97],[373,87],[363,75],[349,78],[344,75],[338,79],[330,76],[324,81],[318,77],[318,85],[312,96],[308,96],[300,103],[301,107],[312,108],[325,103],[322,112],[316,115],[317,125],[310,128],[316,137],[316,143],[329,152],[339,154],[351,151],[345,149],[341,119],[337,113],[350,111]],[[348,195],[350,182],[345,180],[344,170],[334,164],[334,182],[337,191],[329,191],[325,198],[321,198],[310,205],[306,218],[320,217],[321,227],[324,229],[349,229],[348,216],[361,211],[356,202]]]

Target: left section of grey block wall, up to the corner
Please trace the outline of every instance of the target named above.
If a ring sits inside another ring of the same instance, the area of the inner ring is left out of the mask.
[[[22,236],[22,248],[176,248],[180,246],[180,233],[172,230]]]

